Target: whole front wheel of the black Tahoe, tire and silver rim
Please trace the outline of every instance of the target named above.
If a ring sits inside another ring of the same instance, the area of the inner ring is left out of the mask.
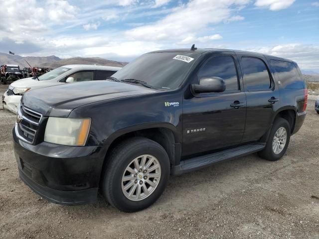
[[[141,167],[140,165],[143,165],[143,159],[140,156],[144,156],[144,162],[146,163],[143,166],[142,171],[138,172],[138,170],[135,169]],[[151,160],[152,158],[153,161]],[[112,206],[121,211],[136,212],[151,206],[160,197],[167,185],[170,171],[168,155],[159,143],[151,139],[144,137],[127,139],[112,150],[107,160],[108,163],[104,169],[101,186],[102,194]],[[134,160],[137,160],[139,163],[137,167],[136,164],[132,162]],[[154,163],[148,165],[148,162],[151,162],[149,160]],[[131,171],[128,170],[130,165],[131,170],[136,172],[135,174],[129,172]],[[154,166],[156,168],[154,171],[146,172],[147,170],[145,170],[145,168],[152,170],[152,167]],[[160,177],[156,179],[149,173],[160,175]],[[123,177],[125,176],[130,177],[130,181],[122,182]],[[145,177],[147,177],[148,181],[144,180],[146,179]],[[141,182],[143,184],[140,184]],[[152,187],[148,182],[152,183],[153,186],[156,186]],[[133,186],[130,186],[130,184]],[[127,191],[125,191],[126,186],[130,186]],[[136,189],[134,189],[134,187],[136,187]],[[145,191],[144,189],[147,187],[149,188]],[[141,188],[140,194],[138,194],[139,188]],[[132,195],[130,196],[131,190]],[[148,190],[150,190],[150,192]],[[138,198],[138,195],[140,198]]]

